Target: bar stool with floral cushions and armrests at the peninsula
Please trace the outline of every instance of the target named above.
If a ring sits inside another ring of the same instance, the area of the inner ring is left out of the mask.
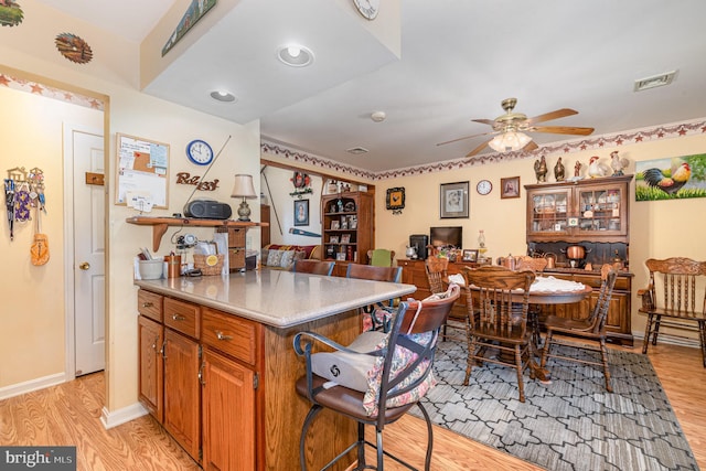
[[[357,439],[323,469],[330,469],[344,457],[353,461],[353,450],[357,458],[355,470],[384,471],[384,456],[416,469],[383,447],[385,426],[397,421],[415,405],[427,425],[425,470],[430,469],[434,429],[419,399],[435,384],[432,365],[439,330],[459,295],[459,287],[453,285],[447,292],[434,295],[434,299],[400,302],[389,333],[376,344],[371,344],[371,336],[366,335],[370,332],[361,334],[347,347],[313,332],[295,335],[295,352],[306,362],[306,374],[297,381],[296,390],[311,402],[299,442],[302,471],[307,470],[308,430],[324,409],[355,420]],[[318,353],[313,353],[314,344]],[[365,426],[375,427],[375,443],[365,439]],[[365,446],[376,450],[377,468],[366,464]]]

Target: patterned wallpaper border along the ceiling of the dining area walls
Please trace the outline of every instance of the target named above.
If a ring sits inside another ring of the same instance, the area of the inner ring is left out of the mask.
[[[357,178],[365,178],[370,180],[388,180],[399,176],[421,175],[426,173],[443,172],[449,170],[464,169],[468,167],[480,165],[485,163],[506,162],[517,159],[528,159],[538,156],[550,154],[569,154],[574,152],[580,152],[589,149],[602,149],[608,147],[631,146],[645,141],[654,141],[662,139],[673,139],[684,136],[694,136],[706,133],[706,120],[704,118],[677,122],[672,125],[661,125],[653,128],[642,128],[632,131],[618,132],[612,135],[595,136],[589,139],[578,139],[574,141],[557,142],[555,144],[542,146],[532,152],[494,152],[483,156],[472,157],[470,159],[461,158],[454,160],[446,160],[442,162],[408,167],[395,170],[385,170],[382,172],[372,172],[367,170],[357,169],[355,167],[346,165],[340,162],[312,156],[298,150],[289,149],[281,144],[261,142],[260,150],[263,153],[280,156],[292,162],[301,162],[310,165],[318,167],[328,171],[336,171],[345,174],[350,174]]]

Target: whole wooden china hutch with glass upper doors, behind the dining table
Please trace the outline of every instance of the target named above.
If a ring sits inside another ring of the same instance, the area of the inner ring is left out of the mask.
[[[620,259],[621,270],[608,311],[606,330],[611,342],[632,345],[631,285],[629,267],[630,181],[632,175],[587,179],[576,182],[525,185],[527,191],[527,251],[552,253],[557,256],[557,269],[547,275],[600,287],[602,264]],[[586,249],[584,260],[569,267],[566,247],[580,244]],[[587,264],[593,270],[585,270]],[[585,319],[596,303],[592,296],[578,304],[543,306],[539,318],[555,314]]]

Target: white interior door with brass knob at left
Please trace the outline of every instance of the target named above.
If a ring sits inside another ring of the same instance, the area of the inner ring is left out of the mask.
[[[105,188],[86,173],[105,174],[103,136],[68,129],[73,156],[75,374],[105,368]],[[67,190],[68,191],[68,190]],[[71,354],[71,352],[69,352]]]

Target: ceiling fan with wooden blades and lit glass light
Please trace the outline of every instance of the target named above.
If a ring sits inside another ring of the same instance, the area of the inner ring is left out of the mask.
[[[506,152],[510,150],[534,150],[538,146],[525,132],[548,132],[554,135],[579,135],[588,136],[593,132],[593,128],[579,128],[575,126],[535,126],[538,122],[549,121],[552,119],[564,118],[566,116],[578,115],[578,111],[569,108],[561,108],[555,111],[545,113],[544,115],[527,118],[522,113],[513,113],[517,98],[506,98],[502,101],[505,110],[504,115],[495,119],[473,119],[475,122],[482,122],[493,127],[492,131],[482,132],[480,135],[466,136],[446,142],[439,142],[437,146],[443,146],[451,142],[458,142],[463,139],[475,138],[479,136],[496,135],[489,141],[483,142],[475,149],[471,150],[466,157],[475,156],[483,150],[485,146],[490,146],[498,152]]]

